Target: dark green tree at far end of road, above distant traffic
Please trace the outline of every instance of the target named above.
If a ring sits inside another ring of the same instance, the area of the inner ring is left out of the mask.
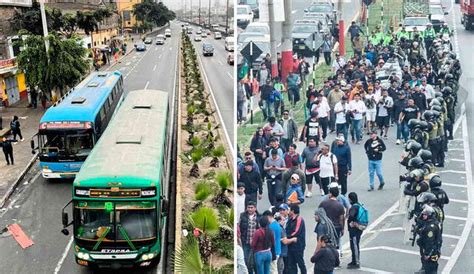
[[[169,10],[163,3],[153,0],[144,0],[133,6],[133,14],[142,24],[153,23],[161,27],[176,18],[176,14]]]

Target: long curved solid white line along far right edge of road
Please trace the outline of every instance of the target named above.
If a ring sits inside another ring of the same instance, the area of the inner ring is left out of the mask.
[[[472,94],[469,94],[469,96],[472,96]],[[469,98],[469,97],[468,97]],[[454,265],[456,264],[457,260],[459,259],[459,256],[461,255],[461,252],[464,249],[464,246],[466,245],[467,239],[469,238],[469,235],[471,234],[471,229],[473,225],[473,219],[474,219],[474,197],[472,189],[474,187],[474,184],[472,182],[472,169],[471,169],[471,149],[469,146],[469,133],[468,133],[468,127],[467,127],[467,118],[464,115],[464,118],[462,120],[462,137],[464,139],[464,150],[465,150],[465,156],[464,158],[466,159],[466,186],[467,186],[467,197],[469,201],[469,206],[468,206],[468,213],[467,213],[467,218],[466,218],[466,223],[464,225],[462,234],[461,234],[461,239],[459,240],[458,244],[456,245],[456,248],[454,249],[453,253],[451,254],[452,260],[449,260],[448,263],[444,266],[443,268],[443,273],[451,273],[451,271],[454,268]]]

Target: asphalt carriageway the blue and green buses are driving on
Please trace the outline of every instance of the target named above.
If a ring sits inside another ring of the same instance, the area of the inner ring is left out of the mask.
[[[111,69],[123,73],[126,91],[172,92],[180,27],[172,24],[171,28],[173,36],[165,45],[147,45],[147,51],[132,52]],[[44,180],[37,165],[30,170],[8,207],[0,212],[0,225],[3,228],[20,224],[35,244],[23,250],[11,236],[0,235],[1,272],[8,269],[8,273],[90,273],[75,263],[71,236],[60,232],[61,209],[71,200],[71,184],[72,181]],[[157,269],[150,269],[140,273],[156,272]]]

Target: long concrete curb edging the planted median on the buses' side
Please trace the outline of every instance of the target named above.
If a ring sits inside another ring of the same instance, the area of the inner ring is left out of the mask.
[[[180,159],[180,153],[181,153],[181,92],[182,92],[182,87],[181,87],[181,38],[179,41],[179,46],[178,46],[178,92],[176,96],[178,96],[178,115],[177,119],[178,121],[176,122],[176,130],[177,132],[177,148],[176,148],[176,206],[175,206],[175,240],[174,240],[174,251],[175,253],[178,251],[179,248],[181,248],[181,230],[182,230],[182,222],[183,222],[183,216],[182,216],[182,208],[183,208],[183,202],[181,199],[181,183],[182,183],[182,170],[183,170],[183,163],[181,162]],[[173,269],[174,270],[174,269]]]

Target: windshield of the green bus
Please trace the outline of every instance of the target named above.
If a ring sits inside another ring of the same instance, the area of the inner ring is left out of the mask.
[[[75,236],[82,240],[100,241],[100,245],[101,242],[133,242],[157,237],[155,202],[79,201],[74,210]]]

